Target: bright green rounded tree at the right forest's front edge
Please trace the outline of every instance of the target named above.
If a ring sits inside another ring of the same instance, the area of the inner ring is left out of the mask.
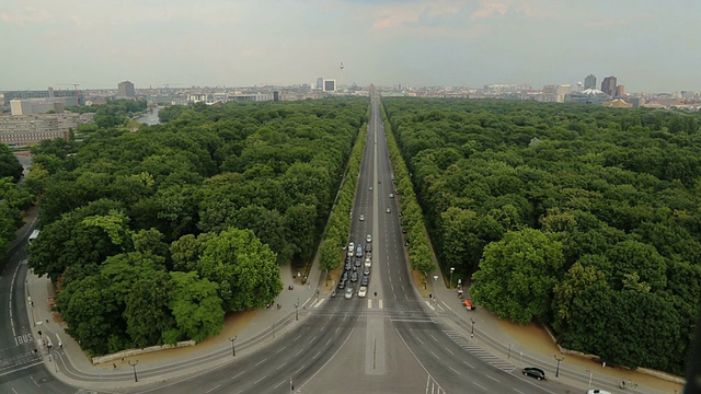
[[[470,293],[499,317],[527,324],[548,316],[563,265],[562,244],[554,234],[533,229],[508,232],[484,248]]]

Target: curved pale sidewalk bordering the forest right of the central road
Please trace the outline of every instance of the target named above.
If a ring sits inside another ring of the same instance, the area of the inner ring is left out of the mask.
[[[434,294],[438,298],[438,304],[449,310],[472,327],[474,320],[475,343],[491,350],[495,356],[508,359],[519,370],[525,367],[539,367],[545,371],[550,380],[558,380],[565,384],[581,387],[583,392],[588,389],[600,389],[611,393],[623,392],[619,389],[621,381],[637,382],[637,389],[625,392],[646,394],[675,394],[683,391],[683,385],[650,374],[628,370],[624,368],[604,367],[601,363],[576,355],[563,355],[554,343],[554,339],[541,326],[533,323],[520,326],[498,318],[492,312],[476,308],[467,311],[461,304],[457,289],[448,289],[440,271],[438,280],[434,285]],[[468,292],[466,291],[466,297]],[[463,329],[466,338],[470,338],[470,332]],[[560,376],[555,378],[558,361],[560,362]],[[589,381],[591,385],[589,386]]]

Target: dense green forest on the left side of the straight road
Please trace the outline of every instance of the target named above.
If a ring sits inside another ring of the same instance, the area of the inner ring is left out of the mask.
[[[312,256],[367,108],[173,106],[163,125],[101,127],[69,153],[38,147],[28,264],[57,285],[68,333],[91,355],[202,340],[227,312],[274,302],[278,265]]]

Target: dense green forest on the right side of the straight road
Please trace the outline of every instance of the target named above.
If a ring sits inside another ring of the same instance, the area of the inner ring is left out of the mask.
[[[383,100],[441,269],[609,364],[683,373],[701,297],[694,114]]]

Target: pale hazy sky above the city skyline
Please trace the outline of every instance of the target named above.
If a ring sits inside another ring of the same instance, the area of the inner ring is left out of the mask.
[[[700,0],[0,0],[0,91],[317,77],[541,89],[589,73],[701,91],[700,15]]]

